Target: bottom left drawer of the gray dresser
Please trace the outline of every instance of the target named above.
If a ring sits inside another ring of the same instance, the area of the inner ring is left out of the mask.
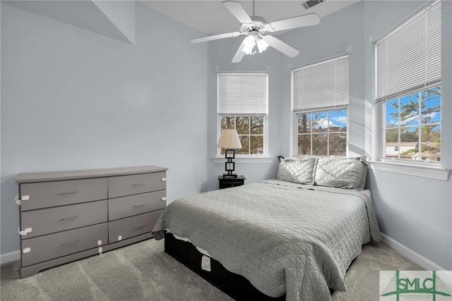
[[[107,244],[107,223],[22,240],[22,266],[63,257]]]

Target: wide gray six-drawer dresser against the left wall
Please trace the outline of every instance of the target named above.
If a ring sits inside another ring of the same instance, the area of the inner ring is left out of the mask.
[[[152,238],[166,206],[159,166],[20,173],[20,278]]]

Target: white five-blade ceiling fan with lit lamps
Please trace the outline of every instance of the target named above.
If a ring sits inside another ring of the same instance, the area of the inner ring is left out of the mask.
[[[283,52],[283,54],[294,57],[299,54],[299,51],[289,44],[273,37],[273,35],[263,35],[266,32],[277,32],[280,30],[290,30],[297,27],[304,27],[309,25],[317,25],[320,23],[319,16],[316,13],[308,13],[307,15],[297,16],[284,20],[267,23],[266,19],[256,16],[254,14],[254,0],[253,0],[253,16],[248,16],[242,5],[236,1],[223,1],[222,4],[234,15],[241,23],[239,31],[228,32],[220,35],[209,35],[207,37],[198,37],[191,39],[192,43],[208,42],[214,39],[225,39],[227,37],[238,37],[239,35],[246,35],[239,49],[232,58],[232,63],[242,61],[245,54],[256,54],[266,50],[268,46]]]

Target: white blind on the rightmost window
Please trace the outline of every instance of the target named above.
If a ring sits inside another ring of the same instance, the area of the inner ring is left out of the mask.
[[[376,43],[376,102],[441,81],[441,1],[434,1]]]

